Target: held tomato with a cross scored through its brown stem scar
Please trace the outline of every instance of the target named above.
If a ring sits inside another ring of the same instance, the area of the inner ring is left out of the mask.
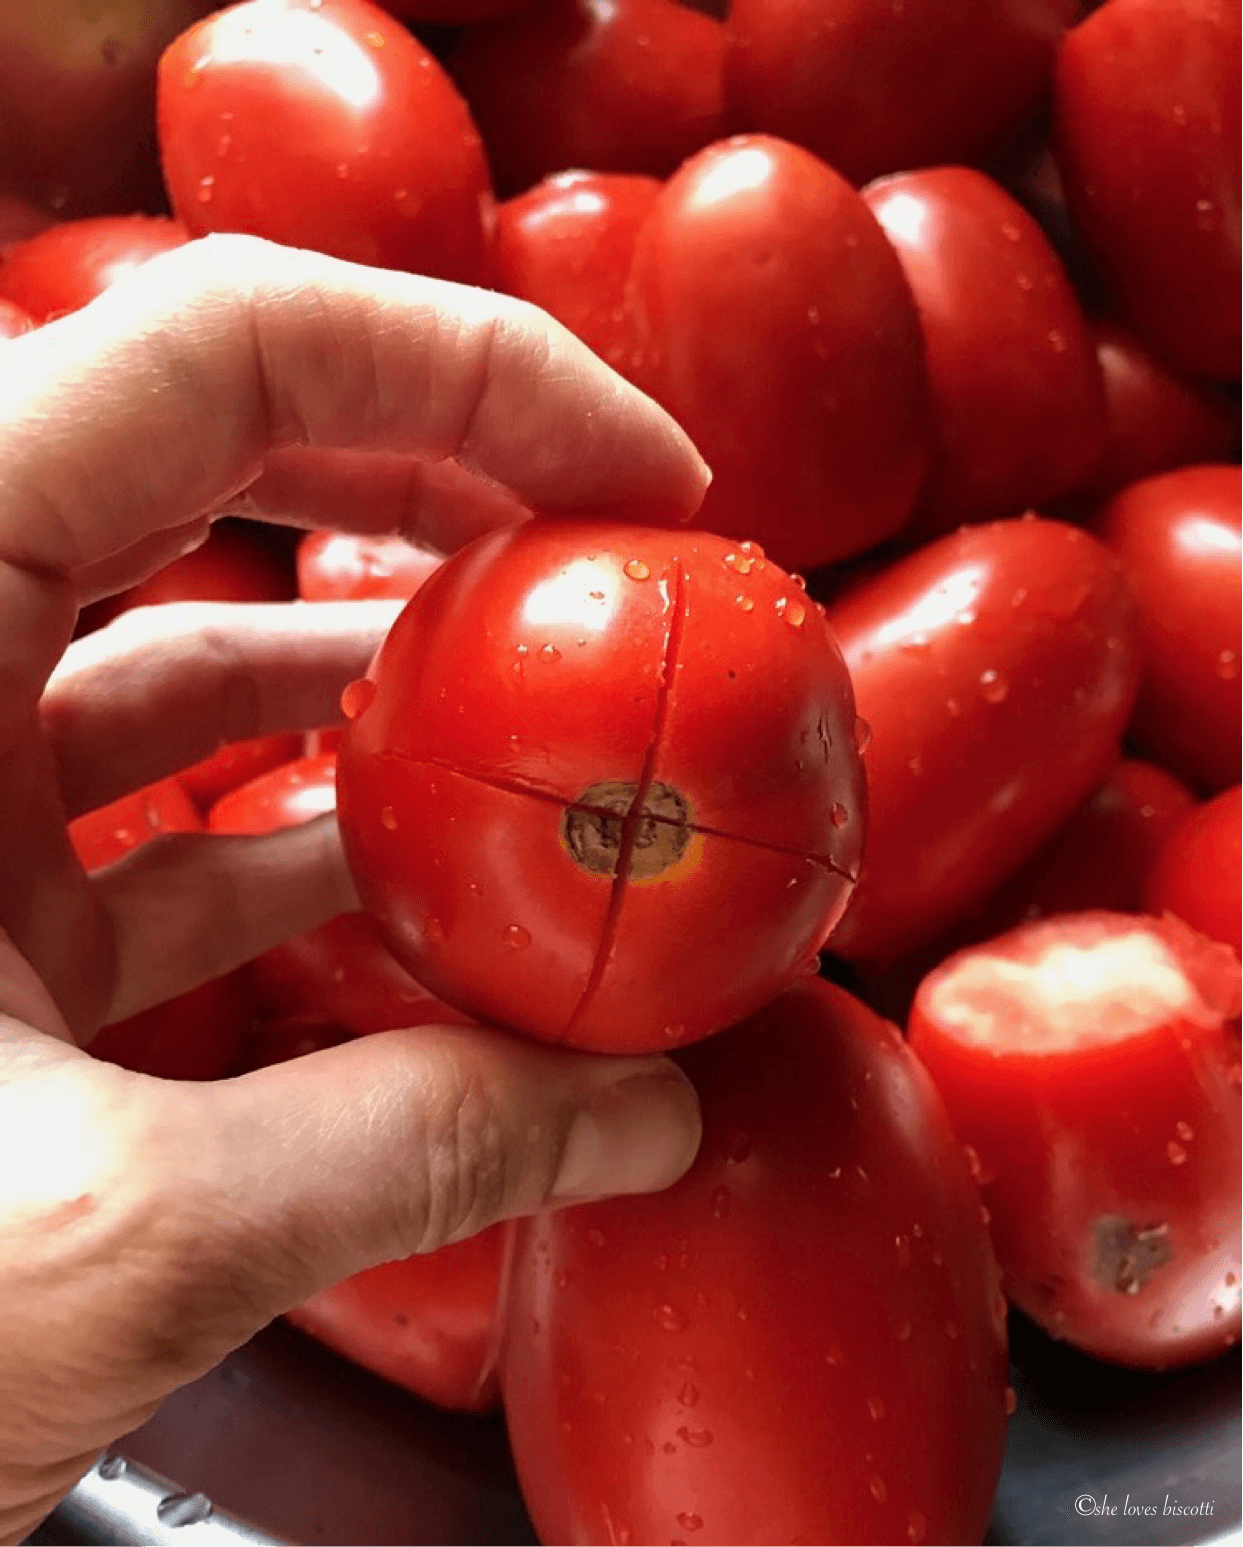
[[[751,543],[528,521],[447,560],[345,695],[359,896],[433,993],[608,1052],[749,1015],[850,896],[864,783],[816,603]]]

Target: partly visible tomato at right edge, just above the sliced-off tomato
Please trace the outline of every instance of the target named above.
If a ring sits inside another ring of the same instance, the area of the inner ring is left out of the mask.
[[[1147,877],[1153,913],[1173,913],[1212,941],[1243,956],[1243,794],[1240,786],[1187,812],[1169,835]]]

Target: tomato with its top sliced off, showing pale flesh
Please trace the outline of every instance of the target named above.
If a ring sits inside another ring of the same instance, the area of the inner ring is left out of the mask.
[[[1080,913],[952,956],[910,1046],[977,1157],[1006,1293],[1163,1369],[1240,1332],[1240,965],[1176,919]]]

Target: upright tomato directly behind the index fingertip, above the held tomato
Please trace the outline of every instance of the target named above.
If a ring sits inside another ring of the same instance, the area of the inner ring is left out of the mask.
[[[715,470],[698,521],[814,568],[910,515],[927,453],[919,319],[858,193],[794,145],[689,161],[639,231],[628,374]]]

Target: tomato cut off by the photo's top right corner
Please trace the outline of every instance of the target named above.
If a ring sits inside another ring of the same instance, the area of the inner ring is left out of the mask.
[[[1110,0],[1057,62],[1074,221],[1124,316],[1183,370],[1237,381],[1243,275],[1238,0]]]

